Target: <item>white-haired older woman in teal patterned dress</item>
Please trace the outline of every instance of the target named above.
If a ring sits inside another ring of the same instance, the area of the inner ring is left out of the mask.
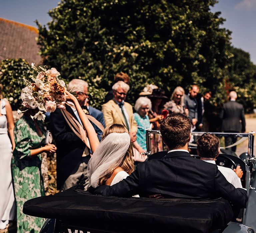
[[[148,111],[151,109],[151,101],[146,97],[140,97],[134,106],[137,113],[134,113],[134,119],[138,124],[137,139],[134,143],[136,149],[138,144],[140,148],[137,150],[142,153],[147,150],[146,145],[146,129],[150,127],[149,117],[147,116]]]

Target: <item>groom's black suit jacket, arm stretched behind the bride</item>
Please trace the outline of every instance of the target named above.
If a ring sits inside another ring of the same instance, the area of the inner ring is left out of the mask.
[[[188,152],[174,151],[162,159],[137,165],[126,179],[113,186],[99,186],[89,192],[107,196],[140,197],[161,194],[168,198],[209,200],[219,197],[243,208],[247,192],[230,184],[215,164],[192,157]]]

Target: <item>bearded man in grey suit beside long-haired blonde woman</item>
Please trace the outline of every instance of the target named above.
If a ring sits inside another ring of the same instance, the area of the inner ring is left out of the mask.
[[[197,100],[196,96],[199,92],[197,85],[192,85],[189,90],[189,94],[184,96],[184,107],[188,109],[188,118],[192,123],[192,131],[196,128],[196,123],[198,121],[197,112]]]

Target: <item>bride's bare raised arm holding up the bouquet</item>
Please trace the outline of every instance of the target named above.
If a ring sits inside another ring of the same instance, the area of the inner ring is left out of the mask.
[[[87,134],[89,142],[90,142],[91,150],[93,153],[96,150],[96,148],[98,147],[98,145],[100,144],[97,133],[95,132],[93,125],[88,120],[86,114],[84,113],[81,106],[79,105],[78,100],[72,94],[70,94],[68,91],[66,91],[65,94],[66,94],[66,98],[71,100],[75,104],[78,116],[85,128],[86,134]]]

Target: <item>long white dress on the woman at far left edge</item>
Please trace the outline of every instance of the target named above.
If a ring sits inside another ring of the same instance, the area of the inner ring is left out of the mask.
[[[0,100],[0,113],[0,229],[5,229],[8,221],[14,219],[15,205],[11,174],[12,144],[7,133],[3,99]]]

